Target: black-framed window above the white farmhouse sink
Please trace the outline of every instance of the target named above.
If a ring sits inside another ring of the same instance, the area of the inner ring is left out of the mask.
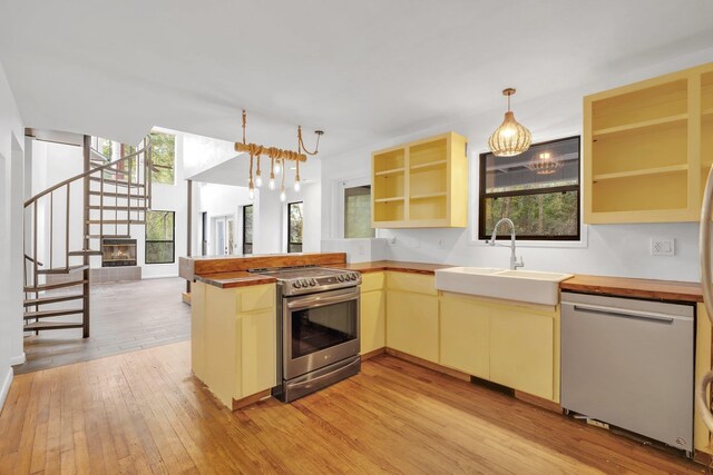
[[[541,161],[554,165],[538,169]],[[578,240],[580,196],[579,137],[535,144],[516,157],[481,154],[478,238],[510,218],[518,238]],[[502,227],[498,239],[506,237]]]

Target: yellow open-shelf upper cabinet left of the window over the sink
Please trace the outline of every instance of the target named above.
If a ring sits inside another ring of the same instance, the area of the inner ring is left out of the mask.
[[[374,151],[374,228],[466,227],[466,138],[448,132]]]

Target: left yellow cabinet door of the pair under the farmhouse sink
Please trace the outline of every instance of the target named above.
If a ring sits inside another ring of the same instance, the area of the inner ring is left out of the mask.
[[[479,378],[490,377],[491,309],[450,295],[441,299],[440,364]]]

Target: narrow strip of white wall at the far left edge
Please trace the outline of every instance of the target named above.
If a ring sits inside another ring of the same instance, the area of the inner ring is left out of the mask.
[[[22,215],[25,127],[0,65],[0,407],[22,354]],[[14,180],[18,180],[14,182]],[[18,229],[19,228],[19,231]],[[18,240],[18,236],[20,239]]]

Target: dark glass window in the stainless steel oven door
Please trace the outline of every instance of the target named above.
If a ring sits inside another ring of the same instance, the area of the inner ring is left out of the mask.
[[[356,299],[292,311],[292,358],[356,338]]]

